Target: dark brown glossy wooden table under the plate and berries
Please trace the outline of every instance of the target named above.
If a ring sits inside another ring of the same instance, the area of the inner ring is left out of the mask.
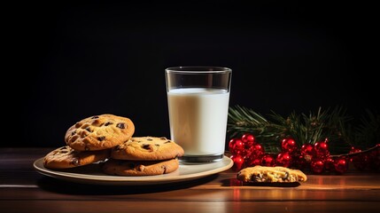
[[[380,212],[380,174],[308,175],[300,185],[241,185],[236,172],[164,185],[86,185],[45,177],[52,148],[0,149],[0,212]]]

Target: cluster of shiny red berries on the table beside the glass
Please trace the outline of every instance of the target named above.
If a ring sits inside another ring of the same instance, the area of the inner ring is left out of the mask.
[[[301,147],[293,138],[283,138],[281,151],[269,154],[252,134],[245,133],[241,138],[229,140],[229,152],[234,162],[232,170],[261,165],[311,170],[315,174],[323,171],[343,174],[348,170],[349,162],[353,162],[358,170],[364,170],[368,162],[375,163],[375,168],[380,167],[380,145],[369,153],[362,153],[360,149],[353,147],[350,154],[333,156],[330,154],[327,138],[314,145],[304,144]]]

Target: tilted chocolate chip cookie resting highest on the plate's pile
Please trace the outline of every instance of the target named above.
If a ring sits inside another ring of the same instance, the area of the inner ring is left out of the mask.
[[[127,117],[100,114],[76,122],[65,135],[66,145],[78,151],[108,149],[127,141],[135,132]]]

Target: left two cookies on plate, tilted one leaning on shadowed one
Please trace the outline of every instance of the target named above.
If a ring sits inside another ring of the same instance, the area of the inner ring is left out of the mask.
[[[66,131],[66,146],[46,154],[44,166],[66,169],[105,161],[111,148],[130,139],[134,132],[134,123],[126,117],[101,114],[85,118]]]

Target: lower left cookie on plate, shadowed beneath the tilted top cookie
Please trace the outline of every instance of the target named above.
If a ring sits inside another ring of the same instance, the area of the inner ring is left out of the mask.
[[[62,146],[43,159],[43,165],[49,169],[67,169],[105,161],[110,156],[110,149],[98,151],[76,151],[70,146]]]

